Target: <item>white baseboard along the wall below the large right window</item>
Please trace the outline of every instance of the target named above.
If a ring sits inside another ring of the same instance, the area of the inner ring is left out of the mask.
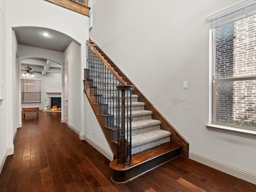
[[[256,184],[256,175],[238,168],[232,167],[230,165],[218,162],[216,160],[210,159],[208,157],[196,154],[194,152],[189,152],[189,158],[210,166],[214,169],[220,170],[224,173],[230,174],[234,177],[240,178],[242,180],[248,181],[250,183]]]

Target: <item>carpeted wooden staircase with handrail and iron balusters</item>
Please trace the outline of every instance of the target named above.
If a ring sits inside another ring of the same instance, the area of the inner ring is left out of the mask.
[[[188,156],[188,142],[168,123],[165,118],[134,86],[131,105],[126,104],[129,116],[131,107],[132,162],[119,165],[117,116],[118,94],[116,86],[133,85],[120,69],[92,41],[88,41],[88,68],[84,70],[84,91],[100,123],[102,131],[114,154],[110,162],[112,180],[125,183],[178,156]],[[90,68],[90,69],[89,69]],[[101,78],[104,76],[105,78]],[[110,86],[111,85],[111,86]],[[108,90],[110,89],[110,90]],[[126,126],[127,125],[127,126]],[[127,134],[127,141],[130,135]],[[130,142],[128,142],[128,146]]]

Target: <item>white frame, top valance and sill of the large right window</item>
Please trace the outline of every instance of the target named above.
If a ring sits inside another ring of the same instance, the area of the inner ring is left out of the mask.
[[[214,14],[208,16],[210,22],[209,32],[209,123],[205,125],[208,130],[222,132],[226,134],[232,134],[237,136],[243,136],[247,138],[256,139],[256,129],[252,128],[239,128],[228,125],[212,124],[213,118],[213,62],[215,60],[214,43],[214,30],[215,26],[221,26],[247,17],[249,15],[256,14],[256,2],[255,0],[240,1],[232,6],[222,9]]]

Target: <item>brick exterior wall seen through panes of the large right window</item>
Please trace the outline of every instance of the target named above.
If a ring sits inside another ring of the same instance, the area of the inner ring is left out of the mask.
[[[256,15],[215,30],[216,119],[256,122]]]

